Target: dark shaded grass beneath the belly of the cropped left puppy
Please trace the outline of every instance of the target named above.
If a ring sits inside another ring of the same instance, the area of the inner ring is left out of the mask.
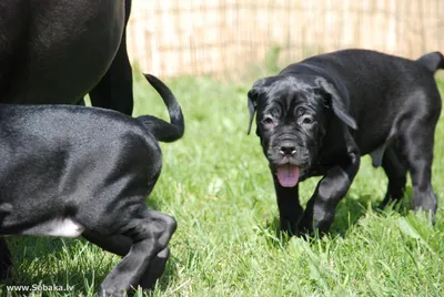
[[[8,238],[12,252],[12,277],[6,279],[6,286],[73,286],[73,290],[60,291],[54,296],[67,294],[85,294],[85,283],[98,289],[108,272],[84,267],[79,258],[79,249],[83,248],[84,239],[61,239],[57,237],[17,236]],[[72,259],[68,257],[72,255]],[[80,257],[82,257],[80,255]],[[44,265],[42,265],[44,264]],[[98,263],[97,266],[100,266]],[[108,265],[110,266],[110,265]],[[4,293],[4,286],[0,287]],[[46,293],[44,293],[46,294]],[[43,294],[43,296],[46,296]],[[14,295],[12,295],[14,296]],[[52,296],[52,295],[51,295]],[[89,296],[89,295],[87,295]]]

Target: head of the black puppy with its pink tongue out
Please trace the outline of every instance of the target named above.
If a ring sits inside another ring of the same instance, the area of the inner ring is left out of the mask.
[[[314,75],[276,75],[256,81],[249,91],[250,123],[256,114],[256,134],[270,168],[285,187],[297,184],[301,171],[316,161],[332,116],[356,129],[333,84]]]

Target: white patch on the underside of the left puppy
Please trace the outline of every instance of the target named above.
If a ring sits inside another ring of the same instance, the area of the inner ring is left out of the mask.
[[[23,231],[21,234],[26,235],[40,235],[40,236],[60,236],[60,237],[78,237],[84,231],[84,227],[78,222],[64,217],[54,218],[29,229]]]

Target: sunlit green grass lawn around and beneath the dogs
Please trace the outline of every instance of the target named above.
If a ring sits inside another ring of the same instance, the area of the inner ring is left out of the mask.
[[[167,273],[151,296],[444,295],[444,117],[435,137],[433,185],[441,202],[435,226],[408,212],[407,198],[398,211],[374,211],[387,181],[366,156],[331,234],[306,242],[276,232],[268,165],[258,137],[246,135],[251,83],[181,78],[168,84],[183,106],[186,131],[182,140],[162,144],[162,175],[148,199],[179,222]],[[167,119],[162,101],[140,76],[134,95],[135,114]],[[315,183],[301,185],[303,203]],[[8,240],[16,264],[8,285],[75,288],[36,296],[93,296],[119,260],[84,240]]]

